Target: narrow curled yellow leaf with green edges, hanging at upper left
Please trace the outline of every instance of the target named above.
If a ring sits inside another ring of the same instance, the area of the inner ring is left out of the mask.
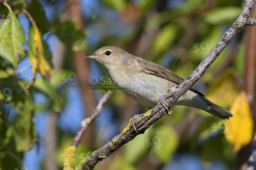
[[[29,35],[29,60],[32,64],[32,73],[35,75],[38,71],[47,79],[52,74],[52,68],[45,60],[42,39],[37,25],[31,21]]]

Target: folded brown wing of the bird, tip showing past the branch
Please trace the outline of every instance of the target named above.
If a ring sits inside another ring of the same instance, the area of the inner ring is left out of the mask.
[[[142,71],[148,73],[148,74],[154,74],[156,76],[159,76],[161,78],[165,78],[173,83],[180,84],[184,81],[182,77],[179,75],[173,73],[169,69],[162,67],[156,63],[153,63],[151,61],[145,60],[146,62],[143,62],[141,64]],[[199,92],[197,89],[194,87],[190,88],[191,90],[195,91],[196,93],[204,96],[201,92]]]

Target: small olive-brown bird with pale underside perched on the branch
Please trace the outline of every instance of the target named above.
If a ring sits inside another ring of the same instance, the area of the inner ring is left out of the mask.
[[[184,80],[161,65],[134,56],[115,46],[99,48],[84,58],[99,62],[106,69],[118,89],[148,108],[153,108],[160,102],[163,107],[169,110],[163,101],[163,97],[168,94],[168,84],[177,86]],[[229,110],[206,99],[194,87],[185,92],[174,105],[201,109],[221,119],[228,119],[233,116]],[[143,113],[136,114],[132,118],[131,122],[137,133],[136,120],[143,115]]]

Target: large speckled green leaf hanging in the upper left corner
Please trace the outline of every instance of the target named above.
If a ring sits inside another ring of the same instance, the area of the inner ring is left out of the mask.
[[[22,47],[26,43],[25,34],[11,7],[7,3],[3,4],[8,8],[9,14],[0,25],[0,56],[17,68],[19,60],[26,56]]]

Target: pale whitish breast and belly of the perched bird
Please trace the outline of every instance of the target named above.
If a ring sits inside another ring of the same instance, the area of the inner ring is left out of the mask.
[[[115,86],[133,98],[138,103],[154,107],[159,100],[160,95],[168,94],[167,79],[157,77],[155,75],[147,74],[144,72],[109,72]]]

